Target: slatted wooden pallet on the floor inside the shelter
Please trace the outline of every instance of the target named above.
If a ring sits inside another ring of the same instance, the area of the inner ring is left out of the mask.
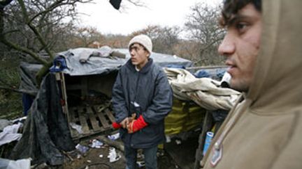
[[[82,127],[82,134],[71,129],[71,137],[78,139],[113,131],[111,124],[115,118],[109,106],[76,106],[69,108],[69,120],[69,123],[73,122]]]

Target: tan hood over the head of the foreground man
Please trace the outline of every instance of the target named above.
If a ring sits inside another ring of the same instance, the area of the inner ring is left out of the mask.
[[[252,113],[281,113],[302,103],[301,0],[263,1],[261,49],[247,92]]]

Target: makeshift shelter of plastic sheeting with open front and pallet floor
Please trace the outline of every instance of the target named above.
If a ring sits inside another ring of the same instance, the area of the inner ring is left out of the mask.
[[[162,67],[192,65],[178,56],[153,52],[150,57]],[[73,150],[73,140],[112,130],[111,89],[117,71],[129,58],[127,49],[110,47],[60,52],[39,90],[34,75],[42,66],[22,63],[20,90],[36,98],[10,158],[31,157],[33,163],[59,165],[63,163],[60,151]]]

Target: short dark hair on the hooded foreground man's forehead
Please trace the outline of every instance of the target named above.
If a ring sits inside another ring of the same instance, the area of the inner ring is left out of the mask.
[[[261,0],[224,0],[222,8],[222,17],[220,18],[220,25],[227,26],[232,15],[236,15],[240,9],[247,4],[252,3],[256,10],[261,12]]]

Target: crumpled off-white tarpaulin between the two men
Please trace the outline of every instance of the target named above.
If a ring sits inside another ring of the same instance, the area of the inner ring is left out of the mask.
[[[230,110],[240,92],[221,88],[220,81],[210,78],[196,78],[183,69],[164,68],[176,98],[193,100],[209,111]]]

